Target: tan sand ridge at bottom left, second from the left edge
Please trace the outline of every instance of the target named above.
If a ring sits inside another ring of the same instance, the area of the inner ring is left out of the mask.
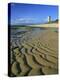
[[[18,48],[15,49],[14,52],[15,52],[15,56],[16,56],[16,61],[19,63],[20,69],[21,69],[21,72],[18,74],[18,76],[19,76],[19,75],[23,76],[23,75],[25,75],[25,74],[27,73],[27,71],[29,71],[31,68],[27,65],[26,60],[24,60],[24,55],[23,55],[23,54],[20,55],[20,52],[19,52],[19,49],[18,49]],[[17,52],[17,53],[19,52],[19,53],[16,54],[16,52]]]

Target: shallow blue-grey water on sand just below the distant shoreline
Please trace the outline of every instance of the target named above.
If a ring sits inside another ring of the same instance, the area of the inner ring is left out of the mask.
[[[37,36],[37,35],[40,35],[41,32],[44,32],[45,30],[44,29],[41,29],[41,28],[20,28],[20,29],[15,29],[15,28],[12,28],[11,29],[11,37],[12,38],[18,38],[17,36],[19,35],[20,37],[23,36],[23,34],[25,33],[31,33],[31,36],[34,37],[34,36]]]

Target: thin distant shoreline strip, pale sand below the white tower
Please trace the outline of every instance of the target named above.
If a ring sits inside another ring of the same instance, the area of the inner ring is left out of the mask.
[[[42,24],[28,24],[28,25],[10,25],[9,27],[58,27],[58,22],[51,22],[51,23],[42,23]]]

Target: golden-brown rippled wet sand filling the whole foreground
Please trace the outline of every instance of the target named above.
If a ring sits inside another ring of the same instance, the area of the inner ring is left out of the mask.
[[[46,28],[45,32],[22,41],[11,42],[10,76],[33,76],[58,73],[58,31]]]

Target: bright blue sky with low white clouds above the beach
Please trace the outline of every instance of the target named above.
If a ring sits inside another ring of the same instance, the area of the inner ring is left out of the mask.
[[[11,3],[11,24],[36,24],[58,18],[58,6]]]

